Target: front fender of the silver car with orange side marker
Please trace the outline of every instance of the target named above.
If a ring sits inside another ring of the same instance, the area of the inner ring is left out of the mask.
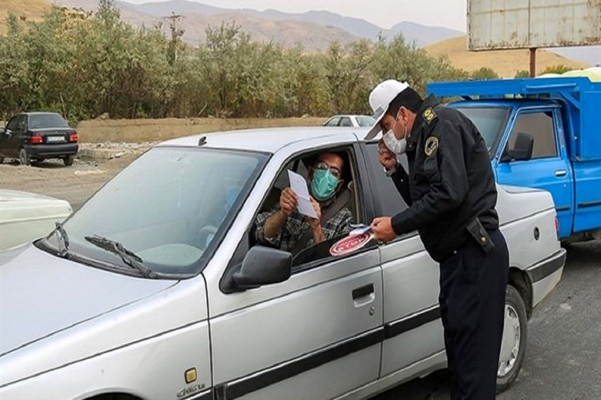
[[[184,379],[188,368],[196,368],[198,374],[191,384]],[[2,387],[0,398],[85,399],[101,393],[128,393],[145,400],[165,400],[182,398],[185,392],[200,394],[210,386],[205,320]]]

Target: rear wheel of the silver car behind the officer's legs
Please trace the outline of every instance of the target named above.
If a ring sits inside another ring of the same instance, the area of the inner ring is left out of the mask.
[[[511,284],[507,285],[504,320],[499,369],[496,375],[497,393],[509,389],[516,380],[522,368],[526,353],[526,339],[528,338],[526,305],[519,291]]]

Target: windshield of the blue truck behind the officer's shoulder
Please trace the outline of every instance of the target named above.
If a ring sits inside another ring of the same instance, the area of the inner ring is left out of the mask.
[[[489,153],[494,154],[495,147],[507,125],[510,109],[508,107],[457,107],[457,110],[474,122],[486,142]]]

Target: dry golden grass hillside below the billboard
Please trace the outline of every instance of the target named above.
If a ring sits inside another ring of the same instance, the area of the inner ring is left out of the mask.
[[[493,50],[489,52],[468,52],[467,37],[460,36],[426,46],[426,51],[433,56],[447,55],[454,67],[466,71],[475,71],[481,67],[489,67],[501,77],[514,77],[517,70],[529,69],[528,50]],[[552,52],[537,50],[536,69],[541,73],[552,65],[566,65],[572,68],[586,68],[590,65],[573,61]]]

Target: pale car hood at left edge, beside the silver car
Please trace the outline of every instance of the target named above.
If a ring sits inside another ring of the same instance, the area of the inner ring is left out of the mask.
[[[0,251],[46,236],[72,212],[65,200],[0,190]]]

